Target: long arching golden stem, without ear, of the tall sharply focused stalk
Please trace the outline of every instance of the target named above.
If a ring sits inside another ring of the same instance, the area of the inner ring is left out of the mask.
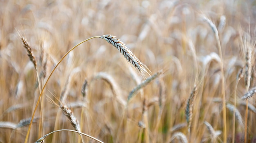
[[[52,76],[52,74],[53,74],[53,72],[55,71],[55,69],[58,67],[58,65],[61,63],[61,61],[63,61],[63,59],[67,56],[67,54],[69,54],[72,50],[74,50],[74,48],[76,48],[77,46],[81,45],[82,43],[84,43],[84,42],[86,42],[86,41],[88,41],[88,40],[90,40],[90,39],[99,38],[99,37],[100,37],[100,36],[91,37],[91,38],[86,39],[86,40],[80,42],[79,44],[75,45],[72,49],[70,49],[70,50],[61,58],[61,60],[60,60],[60,61],[57,63],[57,65],[54,67],[54,69],[52,70],[51,74],[50,74],[49,77],[47,78],[47,80],[46,80],[46,82],[45,82],[45,85],[43,86],[42,91],[41,91],[41,93],[40,93],[40,95],[39,95],[39,97],[38,97],[38,100],[37,100],[37,102],[36,102],[36,106],[35,106],[33,115],[32,115],[31,120],[30,120],[29,129],[28,129],[28,131],[27,131],[27,135],[26,135],[26,138],[25,138],[25,143],[27,143],[27,140],[28,140],[28,137],[29,137],[30,128],[31,128],[31,125],[32,125],[32,121],[33,121],[33,119],[34,119],[34,115],[35,115],[35,113],[36,113],[36,108],[38,107],[38,104],[39,104],[40,98],[41,98],[41,96],[42,96],[43,90],[45,89],[46,84],[47,84],[47,82],[49,81],[49,78]]]

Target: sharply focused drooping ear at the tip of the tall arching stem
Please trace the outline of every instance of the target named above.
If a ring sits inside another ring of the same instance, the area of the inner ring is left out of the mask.
[[[103,35],[100,38],[105,39],[108,43],[112,44],[121,54],[126,58],[126,60],[132,64],[136,69],[139,70],[139,72],[142,74],[142,76],[145,77],[145,74],[148,74],[148,67],[144,65],[139,59],[132,53],[132,51],[127,48],[126,44],[122,42],[120,39],[117,39],[117,37],[113,35]]]

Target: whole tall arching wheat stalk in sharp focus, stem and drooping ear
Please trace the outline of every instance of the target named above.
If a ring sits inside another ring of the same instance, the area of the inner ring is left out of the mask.
[[[105,39],[106,41],[108,41],[108,43],[112,43],[112,45],[114,45],[126,58],[126,60],[128,62],[130,62],[134,67],[136,67],[139,72],[145,76],[145,74],[147,72],[146,69],[148,69],[148,67],[146,67],[146,65],[144,65],[141,61],[139,61],[139,59],[130,51],[130,49],[128,49],[126,47],[126,45],[119,39],[117,39],[115,36],[113,35],[103,35],[103,36],[94,36],[94,37],[90,37],[80,43],[78,43],[77,45],[75,45],[72,49],[70,49],[62,58],[61,60],[56,64],[56,66],[54,67],[54,69],[52,70],[52,72],[49,74],[49,77],[47,78],[46,82],[45,82],[45,85],[43,86],[41,92],[40,92],[40,95],[38,97],[38,100],[36,102],[36,106],[34,108],[34,111],[33,111],[33,114],[32,114],[32,117],[31,117],[31,121],[33,121],[34,119],[34,115],[36,113],[36,109],[39,105],[39,101],[40,101],[40,98],[42,97],[42,93],[43,93],[43,90],[45,89],[46,87],[46,84],[47,82],[49,81],[49,78],[52,76],[53,72],[55,71],[55,69],[58,67],[58,65],[61,63],[61,61],[63,61],[63,59],[72,51],[74,50],[76,47],[78,47],[79,45],[81,45],[82,43],[86,42],[86,41],[89,41],[90,39],[94,39],[94,38],[101,38],[101,39]],[[146,69],[145,69],[146,67]],[[149,69],[148,69],[149,70]],[[29,124],[29,128],[27,130],[27,135],[26,135],[26,138],[25,138],[25,143],[27,143],[28,141],[28,137],[29,137],[29,132],[30,132],[30,129],[31,129],[31,125],[32,125],[32,122],[30,122]]]

